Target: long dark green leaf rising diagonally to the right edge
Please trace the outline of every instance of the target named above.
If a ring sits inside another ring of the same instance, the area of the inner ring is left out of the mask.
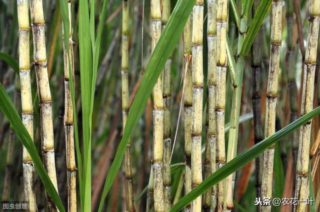
[[[307,114],[301,116],[300,118],[296,119],[295,121],[291,122],[289,125],[285,126],[284,128],[280,129],[279,131],[275,132],[271,136],[263,139],[259,143],[253,145],[252,147],[248,148],[247,150],[243,151],[241,154],[227,162],[224,166],[220,169],[215,171],[209,177],[204,179],[197,187],[195,187],[191,192],[183,196],[173,207],[170,211],[179,211],[183,209],[185,205],[190,203],[193,199],[204,193],[207,189],[233,173],[234,171],[240,169],[250,160],[254,159],[258,155],[260,155],[265,149],[271,146],[274,142],[279,141],[284,136],[288,135],[291,131],[297,129],[301,125],[308,122],[314,116],[320,113],[320,106],[316,107],[315,109],[311,110]]]

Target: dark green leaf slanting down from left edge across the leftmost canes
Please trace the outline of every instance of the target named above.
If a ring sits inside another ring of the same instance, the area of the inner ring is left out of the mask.
[[[5,89],[3,88],[2,84],[0,83],[0,109],[3,112],[3,114],[6,116],[8,121],[11,124],[11,127],[13,130],[16,132],[17,136],[21,140],[21,143],[24,145],[26,150],[29,152],[33,163],[34,167],[45,187],[46,192],[51,196],[52,201],[56,205],[56,207],[59,209],[59,211],[65,211],[64,207],[62,205],[61,199],[56,192],[49,176],[48,173],[45,171],[44,166],[41,162],[41,159],[38,155],[38,152],[36,150],[36,147],[24,127],[16,109],[14,108],[14,105],[6,93]]]

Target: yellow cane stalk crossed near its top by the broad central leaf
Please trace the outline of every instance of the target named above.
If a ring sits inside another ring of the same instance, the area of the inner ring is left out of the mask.
[[[161,6],[160,0],[151,0],[151,52],[161,34]],[[164,105],[162,96],[161,76],[158,77],[153,90],[153,199],[154,211],[164,211],[163,196],[163,119]]]

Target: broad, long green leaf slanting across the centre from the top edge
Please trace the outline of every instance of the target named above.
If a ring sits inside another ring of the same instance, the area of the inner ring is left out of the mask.
[[[119,143],[114,160],[107,173],[103,193],[99,204],[99,210],[102,210],[103,202],[108,193],[116,173],[118,172],[125,152],[126,144],[144,110],[147,99],[151,94],[152,88],[161,73],[166,59],[172,52],[175,44],[178,42],[186,20],[192,10],[195,0],[178,0],[171,16],[158,40],[150,57],[149,63],[143,74],[141,84],[133,100],[131,109],[123,131],[122,139]]]

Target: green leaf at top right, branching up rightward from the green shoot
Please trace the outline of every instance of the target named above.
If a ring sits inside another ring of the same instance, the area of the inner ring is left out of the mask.
[[[248,54],[256,33],[259,31],[259,28],[267,15],[271,2],[272,0],[261,0],[246,33],[239,56],[245,57]]]

